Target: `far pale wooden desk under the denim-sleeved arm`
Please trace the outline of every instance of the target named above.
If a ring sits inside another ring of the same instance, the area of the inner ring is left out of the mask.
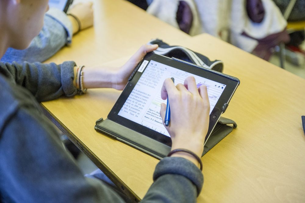
[[[99,66],[135,53],[151,39],[174,43],[191,38],[125,0],[90,1],[94,2],[94,28],[78,33],[70,47],[61,49],[47,62],[74,60],[77,64]]]

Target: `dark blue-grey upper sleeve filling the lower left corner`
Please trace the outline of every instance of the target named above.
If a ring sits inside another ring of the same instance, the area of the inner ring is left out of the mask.
[[[56,128],[31,103],[17,108],[0,131],[0,201],[123,202],[106,184],[82,175]]]

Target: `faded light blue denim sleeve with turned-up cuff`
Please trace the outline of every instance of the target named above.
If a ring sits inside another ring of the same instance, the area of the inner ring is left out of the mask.
[[[70,44],[72,34],[72,24],[66,14],[58,9],[50,9],[45,14],[42,30],[30,46],[24,50],[8,48],[1,62],[43,62],[65,44]]]

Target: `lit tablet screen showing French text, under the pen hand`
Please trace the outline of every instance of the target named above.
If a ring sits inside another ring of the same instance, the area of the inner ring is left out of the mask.
[[[166,104],[167,102],[161,98],[161,87],[166,78],[174,77],[175,85],[177,85],[178,83],[184,84],[185,78],[193,76],[195,77],[197,87],[203,84],[206,85],[210,100],[210,114],[226,87],[225,84],[185,72],[154,60],[144,60],[138,72],[143,73],[118,112],[118,115],[168,137],[170,135],[163,126],[163,121],[160,116],[160,104]]]

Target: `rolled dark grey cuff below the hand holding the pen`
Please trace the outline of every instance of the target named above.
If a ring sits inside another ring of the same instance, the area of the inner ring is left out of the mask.
[[[197,196],[200,194],[203,186],[203,174],[195,164],[182,157],[163,158],[156,166],[153,180],[155,181],[160,176],[169,173],[188,178],[196,186]]]

